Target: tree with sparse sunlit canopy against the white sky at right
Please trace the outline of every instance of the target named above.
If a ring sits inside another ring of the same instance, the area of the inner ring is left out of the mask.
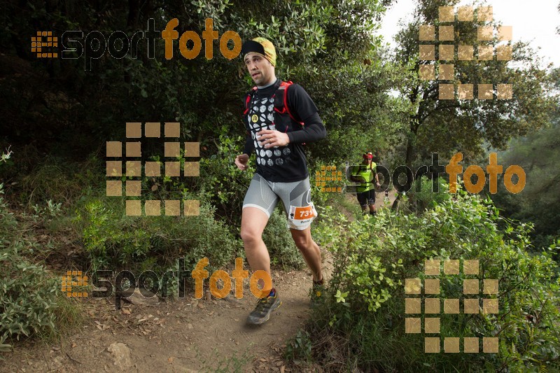
[[[414,19],[397,36],[395,59],[409,71],[400,94],[414,106],[407,119],[405,161],[409,166],[418,155],[461,151],[470,157],[482,153],[484,143],[503,148],[513,136],[547,122],[552,101],[547,98],[546,71],[540,67],[538,55],[526,43],[498,40],[499,24],[484,17],[480,7],[485,4],[475,3],[472,21],[465,20],[470,16],[466,8],[461,9],[459,19],[457,4],[458,0],[419,0]],[[440,18],[440,6],[453,7],[448,20]],[[433,29],[422,27],[427,34],[420,41],[422,25]],[[490,27],[489,40],[478,40],[481,32],[484,35],[479,27]],[[430,34],[433,41],[426,40]],[[433,55],[420,56],[421,45],[433,45],[422,47],[433,48]],[[472,45],[472,49],[463,45]],[[446,56],[446,48],[451,48],[451,56]],[[508,58],[508,48],[511,61],[503,60]],[[485,52],[489,57],[483,57]],[[421,76],[421,70],[426,76]],[[441,99],[444,89],[440,83],[454,85],[451,99]],[[458,97],[459,84],[463,88],[472,85],[472,99]],[[492,85],[489,99],[479,98],[479,84]],[[512,85],[511,99],[498,99],[498,84]]]

